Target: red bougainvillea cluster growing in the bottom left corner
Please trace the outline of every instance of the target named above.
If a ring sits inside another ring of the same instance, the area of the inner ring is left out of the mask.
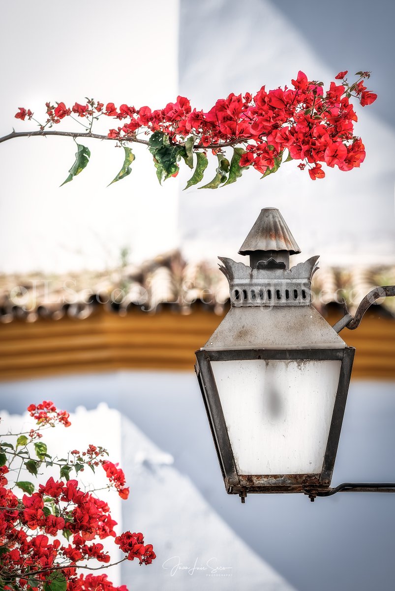
[[[144,544],[141,533],[116,535],[109,505],[96,495],[102,489],[82,490],[77,480],[86,467],[94,473],[102,466],[108,480],[105,488],[114,488],[120,498],[127,499],[129,488],[123,470],[106,459],[103,447],[92,444],[83,452],[72,450],[67,459],[51,456],[42,431],[58,424],[70,426],[68,413],[57,410],[50,401],[31,404],[28,411],[36,421],[35,428],[0,436],[0,589],[128,591],[125,585],[114,586],[107,574],[78,572],[100,571],[135,558],[140,564],[155,560],[152,545]],[[17,439],[8,441],[13,437]],[[20,478],[22,469],[37,480],[43,469],[54,467],[59,470],[58,479],[51,476],[45,483],[35,484]],[[76,478],[71,478],[74,473]],[[100,541],[106,538],[115,538],[123,552],[112,564]],[[92,560],[103,565],[90,566]]]

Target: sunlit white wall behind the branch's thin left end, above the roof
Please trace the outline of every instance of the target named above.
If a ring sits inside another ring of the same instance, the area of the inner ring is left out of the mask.
[[[162,108],[177,97],[178,0],[105,0],[2,5],[0,135],[35,129],[45,102]],[[106,119],[107,131],[117,120]],[[70,129],[65,121],[59,129]],[[77,124],[75,128],[79,129]],[[102,132],[106,125],[99,125]],[[84,131],[81,127],[80,131]],[[120,250],[141,260],[178,243],[178,180],[160,187],[151,154],[135,148],[132,173],[106,188],[123,163],[113,142],[90,140],[90,163],[59,187],[76,152],[71,138],[0,144],[0,272],[64,272],[114,266]]]

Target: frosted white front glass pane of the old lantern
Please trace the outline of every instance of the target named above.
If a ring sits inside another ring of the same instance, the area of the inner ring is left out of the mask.
[[[341,361],[211,363],[240,474],[321,472]]]

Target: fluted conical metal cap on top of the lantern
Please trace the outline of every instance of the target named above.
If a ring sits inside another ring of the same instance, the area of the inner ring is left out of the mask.
[[[276,207],[265,207],[261,210],[241,245],[239,254],[249,255],[256,251],[288,251],[290,255],[301,252]]]

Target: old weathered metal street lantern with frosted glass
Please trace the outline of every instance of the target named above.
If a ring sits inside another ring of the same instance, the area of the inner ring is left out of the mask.
[[[304,492],[314,500],[334,491],[354,358],[338,332],[355,319],[346,313],[331,327],[312,306],[318,256],[289,268],[299,252],[279,210],[262,209],[239,251],[250,266],[219,257],[231,307],[196,352],[226,491],[242,502],[249,492]]]

